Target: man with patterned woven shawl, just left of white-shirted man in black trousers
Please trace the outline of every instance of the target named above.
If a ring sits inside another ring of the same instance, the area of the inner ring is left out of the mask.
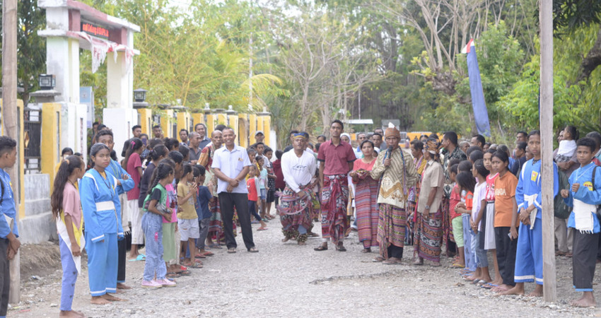
[[[202,148],[200,157],[197,164],[202,165],[205,168],[206,173],[206,186],[209,187],[209,191],[213,194],[214,200],[209,201],[209,211],[211,211],[211,218],[209,219],[209,235],[206,236],[206,245],[211,248],[219,248],[219,240],[223,235],[223,222],[221,221],[221,209],[219,208],[219,200],[217,199],[217,177],[215,177],[211,165],[213,164],[213,156],[218,148],[221,148],[222,132],[215,130],[211,134],[211,143]],[[213,243],[213,236],[215,235],[217,242]]]

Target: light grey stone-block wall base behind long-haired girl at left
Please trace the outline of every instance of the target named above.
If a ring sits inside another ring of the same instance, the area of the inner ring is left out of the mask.
[[[25,175],[25,217],[19,219],[21,243],[37,244],[58,240],[57,225],[50,207],[50,176]]]

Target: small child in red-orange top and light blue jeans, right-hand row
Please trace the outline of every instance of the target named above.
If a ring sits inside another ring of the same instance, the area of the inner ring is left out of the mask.
[[[472,216],[472,201],[474,199],[476,179],[472,176],[472,172],[467,171],[460,172],[455,179],[457,180],[457,185],[461,188],[461,202],[455,206],[455,211],[461,213],[460,227],[462,228],[464,245],[463,248],[460,248],[460,254],[464,255],[465,268],[469,272],[474,272],[476,271],[476,255],[472,250],[469,219]],[[455,232],[455,224],[453,224],[453,232]],[[456,235],[455,238],[457,238]]]

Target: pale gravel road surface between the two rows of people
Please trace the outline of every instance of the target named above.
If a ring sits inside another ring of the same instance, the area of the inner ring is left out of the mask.
[[[332,245],[315,252],[320,238],[308,240],[304,247],[294,241],[282,243],[279,220],[268,226],[257,232],[253,225],[259,253],[246,252],[238,235],[238,253],[212,249],[215,256],[204,259],[204,268],[177,278],[175,288],[141,288],[144,262],[128,261],[126,283],[133,289],[119,294],[127,302],[91,305],[84,259],[74,309],[88,317],[601,317],[598,309],[568,305],[578,293],[572,288],[567,257],[556,259],[559,301],[550,304],[541,298],[498,297],[469,285],[449,267],[447,258],[440,268],[412,266],[412,247],[405,248],[403,264],[386,266],[371,261],[375,252],[360,252],[356,232],[345,241],[347,252],[337,252]],[[320,230],[319,223],[315,230]],[[8,315],[57,317],[62,275],[58,245],[21,248],[21,302],[11,306]],[[595,285],[600,281],[597,275]],[[534,285],[526,287],[528,293]]]

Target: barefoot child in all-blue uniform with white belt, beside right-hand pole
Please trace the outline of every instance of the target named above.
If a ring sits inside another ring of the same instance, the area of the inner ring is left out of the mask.
[[[515,189],[515,199],[520,209],[520,236],[518,237],[517,257],[515,259],[515,287],[505,295],[522,295],[524,283],[536,281],[535,290],[529,296],[542,296],[542,185],[540,162],[540,131],[528,134],[528,147],[535,155],[528,160],[522,172],[520,182]],[[557,166],[553,164],[553,196],[559,192]],[[516,233],[517,235],[517,233]]]

